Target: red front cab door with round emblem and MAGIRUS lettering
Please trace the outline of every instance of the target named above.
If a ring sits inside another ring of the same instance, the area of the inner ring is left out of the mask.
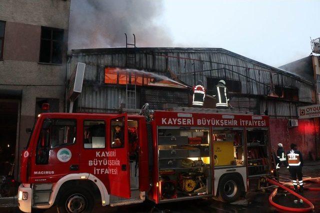
[[[55,182],[78,172],[78,134],[76,119],[45,118],[31,160],[31,181]],[[47,177],[50,177],[47,179]]]

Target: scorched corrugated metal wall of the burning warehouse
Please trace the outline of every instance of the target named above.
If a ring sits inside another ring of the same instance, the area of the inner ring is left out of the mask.
[[[104,68],[126,67],[128,53],[135,54],[136,69],[178,79],[190,86],[197,80],[202,80],[206,86],[207,77],[212,77],[238,80],[241,82],[241,93],[250,96],[267,96],[271,87],[278,85],[298,88],[300,102],[312,103],[312,97],[314,97],[312,83],[220,48],[84,49],[73,50],[69,61],[71,71],[74,70],[76,62],[86,64],[84,88],[79,97],[78,109],[108,111],[117,109],[121,100],[125,102],[125,88],[104,84]],[[143,93],[143,95],[147,94]],[[139,96],[137,97],[139,99]],[[178,95],[175,94],[174,97]],[[144,100],[145,98],[141,101]],[[291,104],[290,108],[290,102],[265,101],[266,103],[263,101],[260,103],[259,97],[232,97],[231,104],[234,108],[251,110],[257,114],[264,112],[263,109],[267,106],[271,116],[296,116],[295,104],[294,106]],[[181,104],[183,105],[182,102]]]

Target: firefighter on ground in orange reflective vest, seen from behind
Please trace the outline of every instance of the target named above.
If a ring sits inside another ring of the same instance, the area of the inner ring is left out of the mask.
[[[286,152],[286,161],[292,178],[294,190],[303,193],[302,167],[303,159],[300,151],[296,149],[296,144],[290,145],[290,151]],[[298,181],[296,181],[298,179]],[[298,186],[299,185],[299,191]],[[301,201],[300,201],[301,202]]]

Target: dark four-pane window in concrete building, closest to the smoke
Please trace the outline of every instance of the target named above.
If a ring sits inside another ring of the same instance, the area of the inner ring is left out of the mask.
[[[63,29],[41,27],[39,62],[62,63]]]

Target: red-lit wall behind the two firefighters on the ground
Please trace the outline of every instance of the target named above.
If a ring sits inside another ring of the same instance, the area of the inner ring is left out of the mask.
[[[277,149],[277,144],[282,143],[284,150],[290,149],[294,143],[302,152],[303,159],[308,159],[309,152],[316,154],[316,127],[313,119],[298,121],[298,127],[286,128],[287,119],[270,119],[270,140],[271,146]]]

